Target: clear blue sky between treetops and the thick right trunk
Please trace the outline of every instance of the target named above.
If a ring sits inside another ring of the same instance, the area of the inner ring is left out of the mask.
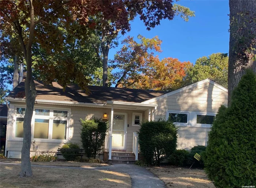
[[[176,1],[174,1],[176,3]],[[228,0],[181,0],[177,2],[195,11],[195,17],[185,22],[180,17],[174,20],[162,20],[160,26],[147,31],[139,18],[131,23],[131,31],[121,36],[119,41],[126,36],[141,34],[146,38],[158,35],[162,40],[162,53],[159,58],[172,57],[180,61],[195,63],[197,58],[208,56],[212,53],[229,52],[229,1]],[[109,51],[112,59],[117,48]]]

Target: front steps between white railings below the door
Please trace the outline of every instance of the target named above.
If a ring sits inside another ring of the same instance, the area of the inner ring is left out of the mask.
[[[109,156],[109,152],[107,152]],[[108,160],[109,164],[113,163],[122,163],[122,164],[134,164],[136,162],[135,155],[132,152],[121,152],[121,151],[112,151],[111,160]]]

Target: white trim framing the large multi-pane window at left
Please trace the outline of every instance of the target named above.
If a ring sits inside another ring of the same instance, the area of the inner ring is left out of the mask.
[[[14,115],[14,123],[13,123],[13,131],[12,131],[12,140],[14,141],[22,141],[23,138],[15,137],[16,132],[16,118],[24,118],[23,114],[17,114],[16,109],[17,108],[26,108],[26,106],[14,106],[15,115]],[[50,110],[50,115],[35,115],[35,109],[44,109],[44,110]],[[68,117],[56,117],[53,116],[53,110],[65,110],[68,111]],[[31,141],[35,140],[36,142],[52,142],[52,143],[65,143],[69,140],[69,132],[70,132],[70,122],[71,118],[71,109],[68,108],[49,108],[44,106],[34,106],[33,109],[33,116],[31,119]],[[45,119],[49,120],[49,130],[48,130],[48,138],[34,138],[34,123],[35,119]],[[66,128],[66,139],[65,140],[59,140],[59,139],[52,139],[52,130],[53,130],[53,120],[64,120],[67,121],[67,128]]]

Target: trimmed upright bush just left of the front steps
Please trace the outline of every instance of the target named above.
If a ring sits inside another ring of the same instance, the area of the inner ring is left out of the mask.
[[[108,123],[103,122],[102,119],[92,118],[90,120],[80,120],[81,141],[87,157],[96,158],[100,153],[105,142]]]

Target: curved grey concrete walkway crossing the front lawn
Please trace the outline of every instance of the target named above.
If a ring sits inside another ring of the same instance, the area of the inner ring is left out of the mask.
[[[0,165],[20,165],[11,162],[0,162]],[[139,167],[134,164],[113,164],[102,167],[60,167],[46,165],[31,165],[32,167],[40,168],[66,168],[66,169],[87,169],[87,170],[108,170],[128,173],[132,179],[132,188],[162,188],[166,187],[162,180],[153,175],[146,168]]]

